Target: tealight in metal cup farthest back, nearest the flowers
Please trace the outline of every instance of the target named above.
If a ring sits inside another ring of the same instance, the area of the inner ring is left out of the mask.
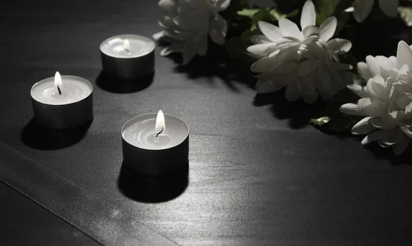
[[[135,80],[155,71],[155,42],[144,36],[124,34],[100,44],[102,67],[106,74],[122,80]]]

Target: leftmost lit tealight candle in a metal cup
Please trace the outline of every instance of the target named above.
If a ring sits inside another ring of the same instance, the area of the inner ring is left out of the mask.
[[[93,119],[93,86],[84,78],[58,72],[33,85],[34,119],[47,128],[77,128]]]

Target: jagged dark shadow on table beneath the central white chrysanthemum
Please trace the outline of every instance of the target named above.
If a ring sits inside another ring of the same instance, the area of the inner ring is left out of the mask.
[[[279,120],[288,119],[290,128],[303,128],[308,125],[310,118],[325,107],[323,100],[319,99],[313,104],[306,104],[303,100],[289,102],[284,96],[285,90],[274,93],[257,94],[253,105],[256,107],[272,105],[271,111]]]

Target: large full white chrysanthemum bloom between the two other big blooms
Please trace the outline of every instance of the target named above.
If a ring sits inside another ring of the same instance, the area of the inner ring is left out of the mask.
[[[280,19],[279,27],[259,22],[264,35],[253,36],[255,45],[247,51],[259,60],[251,71],[260,73],[256,90],[270,93],[286,87],[285,96],[290,101],[303,98],[312,103],[320,95],[325,100],[352,82],[347,71],[350,65],[341,64],[338,54],[345,54],[352,43],[332,38],[336,18],[330,17],[315,26],[316,12],[312,1],[306,1],[301,14],[301,29],[288,19]]]

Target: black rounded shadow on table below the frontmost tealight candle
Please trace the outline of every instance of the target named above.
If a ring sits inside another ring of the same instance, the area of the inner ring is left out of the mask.
[[[146,177],[131,170],[124,162],[117,186],[126,197],[144,203],[161,203],[179,197],[189,183],[189,163],[170,177]]]

